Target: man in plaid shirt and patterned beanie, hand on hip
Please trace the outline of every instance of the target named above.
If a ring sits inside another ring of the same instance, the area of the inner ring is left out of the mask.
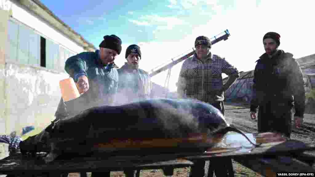
[[[180,98],[197,99],[207,102],[224,114],[224,91],[226,91],[239,77],[238,70],[218,55],[211,54],[211,41],[206,36],[199,36],[195,40],[196,53],[184,61],[177,84]],[[229,76],[223,85],[222,73]],[[185,93],[186,92],[186,93]],[[204,176],[205,161],[196,161],[192,168],[193,174]],[[224,168],[226,165],[227,168]],[[210,165],[209,173],[215,169],[216,176],[234,176],[232,160],[220,160]],[[211,176],[211,174],[209,175]]]

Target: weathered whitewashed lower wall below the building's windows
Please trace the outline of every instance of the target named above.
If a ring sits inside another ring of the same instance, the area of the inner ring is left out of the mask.
[[[54,120],[60,101],[63,72],[7,63],[4,68],[5,134],[18,133],[28,125],[46,127]]]

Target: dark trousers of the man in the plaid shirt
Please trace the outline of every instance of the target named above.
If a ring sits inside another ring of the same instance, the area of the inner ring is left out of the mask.
[[[210,103],[211,104],[211,103]],[[223,101],[218,101],[211,104],[225,115],[224,103]],[[205,175],[205,160],[193,160],[194,165],[191,168],[191,176],[203,177]],[[224,176],[224,177],[234,177],[232,159],[229,157],[220,158],[215,160],[210,160],[208,168],[208,177]]]

